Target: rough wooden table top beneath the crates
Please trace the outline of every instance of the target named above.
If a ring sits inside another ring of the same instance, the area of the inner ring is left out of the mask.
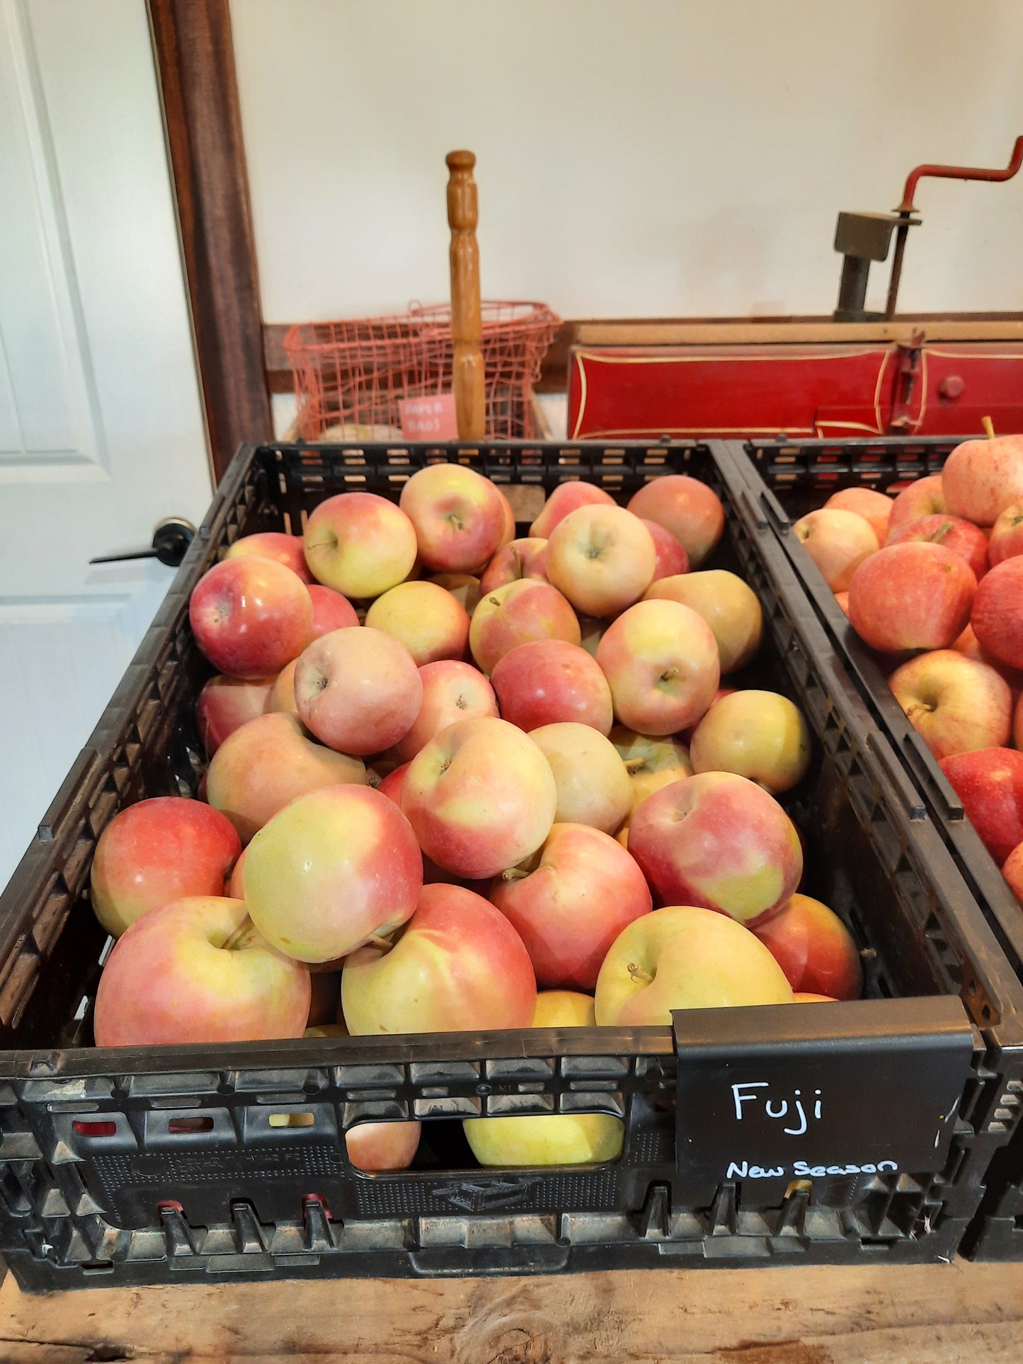
[[[1,1364],[1019,1364],[1023,1264],[0,1288]]]

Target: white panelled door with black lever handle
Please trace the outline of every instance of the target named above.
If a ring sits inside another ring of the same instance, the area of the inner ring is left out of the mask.
[[[145,0],[0,0],[0,887],[210,494]]]

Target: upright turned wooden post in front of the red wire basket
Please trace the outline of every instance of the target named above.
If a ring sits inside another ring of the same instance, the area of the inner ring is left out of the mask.
[[[449,151],[447,225],[451,229],[451,340],[454,341],[454,411],[460,441],[481,441],[487,432],[480,315],[480,248],[476,244],[479,203],[472,151]]]

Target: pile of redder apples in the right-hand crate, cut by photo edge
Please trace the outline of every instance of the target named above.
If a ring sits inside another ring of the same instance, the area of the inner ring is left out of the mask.
[[[792,529],[891,657],[892,692],[1023,903],[1023,435],[966,441],[895,499],[846,488]]]

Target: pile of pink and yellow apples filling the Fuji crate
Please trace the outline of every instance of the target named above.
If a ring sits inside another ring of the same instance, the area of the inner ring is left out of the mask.
[[[762,629],[741,578],[690,572],[723,527],[711,488],[668,475],[627,509],[562,484],[514,539],[494,483],[435,464],[397,505],[346,492],[301,537],[235,543],[190,604],[218,670],[198,702],[205,802],[142,801],[97,847],[117,938],[97,1043],[857,997],[857,948],[797,893],[776,799],[806,773],[806,722],[720,687]],[[356,1163],[398,1168],[419,1125],[349,1135]],[[483,1163],[552,1163],[610,1158],[622,1125],[466,1135]]]

